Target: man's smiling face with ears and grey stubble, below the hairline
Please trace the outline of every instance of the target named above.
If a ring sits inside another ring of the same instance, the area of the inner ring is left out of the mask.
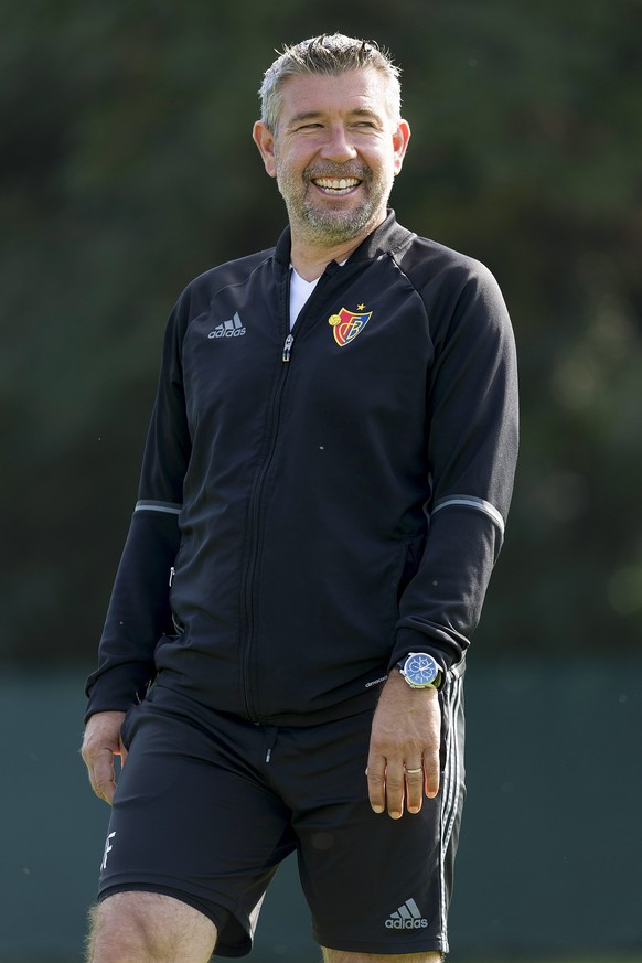
[[[255,125],[292,232],[332,245],[365,236],[384,220],[410,136],[404,120],[390,117],[386,93],[374,69],[289,77],[277,130]]]

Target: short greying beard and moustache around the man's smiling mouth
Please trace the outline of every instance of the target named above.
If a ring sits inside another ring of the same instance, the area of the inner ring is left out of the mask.
[[[363,194],[359,203],[331,194],[319,196],[313,178],[357,178]],[[315,244],[332,245],[352,240],[385,213],[393,179],[384,171],[355,164],[323,164],[300,172],[283,170],[277,158],[277,184],[286,202],[290,224]]]

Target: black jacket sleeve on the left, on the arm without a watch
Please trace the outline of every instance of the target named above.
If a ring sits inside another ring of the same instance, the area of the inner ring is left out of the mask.
[[[87,680],[86,718],[125,711],[143,697],[154,675],[157,642],[171,631],[170,573],[180,544],[179,514],[191,451],[181,364],[182,301],[184,296],[165,332],[138,501],[111,592],[98,667]]]

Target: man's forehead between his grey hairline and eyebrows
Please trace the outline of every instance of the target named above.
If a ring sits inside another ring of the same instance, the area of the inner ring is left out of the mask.
[[[389,92],[386,78],[374,69],[347,71],[339,76],[297,74],[281,87],[279,124],[289,124],[301,115],[347,115],[367,110],[377,116],[388,114]]]

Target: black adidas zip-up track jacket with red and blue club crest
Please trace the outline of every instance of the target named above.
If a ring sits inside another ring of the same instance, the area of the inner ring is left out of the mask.
[[[374,704],[408,652],[462,661],[517,448],[497,285],[389,212],[289,336],[289,258],[286,231],[170,317],[87,715],[156,681],[307,725]]]

